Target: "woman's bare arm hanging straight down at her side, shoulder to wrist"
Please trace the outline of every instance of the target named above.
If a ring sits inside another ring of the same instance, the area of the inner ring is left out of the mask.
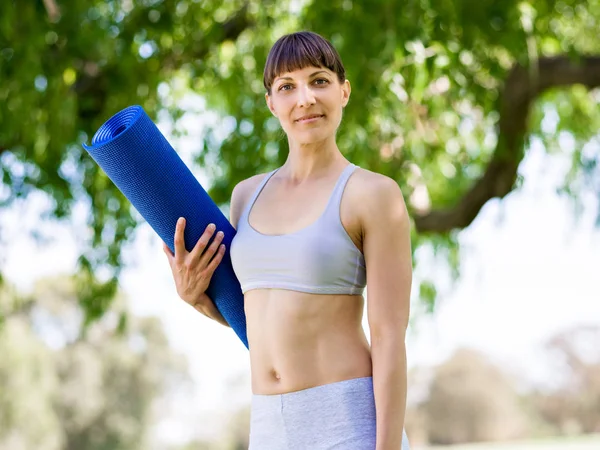
[[[412,283],[410,224],[397,183],[376,177],[370,183],[369,201],[363,203],[361,215],[377,414],[376,450],[399,450],[406,410],[405,336]]]

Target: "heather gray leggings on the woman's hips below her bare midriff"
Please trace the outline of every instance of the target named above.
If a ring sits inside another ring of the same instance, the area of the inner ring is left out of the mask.
[[[249,450],[375,450],[372,377],[253,395]],[[403,435],[402,449],[409,450]]]

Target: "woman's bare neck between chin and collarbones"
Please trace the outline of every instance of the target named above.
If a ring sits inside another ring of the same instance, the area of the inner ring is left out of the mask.
[[[290,181],[302,181],[318,178],[333,166],[348,163],[335,143],[335,139],[327,139],[311,144],[290,142],[288,157],[280,172]]]

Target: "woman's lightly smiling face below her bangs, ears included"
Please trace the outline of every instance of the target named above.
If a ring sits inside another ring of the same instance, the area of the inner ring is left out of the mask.
[[[350,97],[350,83],[322,67],[282,73],[266,95],[271,112],[292,141],[310,144],[335,135],[342,109]]]

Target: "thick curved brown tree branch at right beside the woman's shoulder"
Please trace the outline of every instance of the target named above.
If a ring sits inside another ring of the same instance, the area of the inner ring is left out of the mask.
[[[552,88],[582,84],[589,89],[600,86],[600,57],[567,56],[541,58],[538,76],[522,66],[510,72],[500,104],[498,144],[485,173],[458,203],[447,209],[414,213],[419,232],[443,233],[466,228],[473,222],[485,203],[502,198],[514,189],[517,170],[524,157],[527,119],[532,102]]]

